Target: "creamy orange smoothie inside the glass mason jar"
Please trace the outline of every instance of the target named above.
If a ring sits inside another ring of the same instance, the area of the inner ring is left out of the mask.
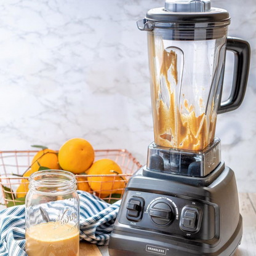
[[[48,222],[26,230],[28,256],[79,256],[79,230],[65,224]]]

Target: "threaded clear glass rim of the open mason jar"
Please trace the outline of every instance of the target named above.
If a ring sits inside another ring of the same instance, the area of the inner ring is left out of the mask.
[[[28,188],[31,190],[37,191],[42,187],[52,189],[52,191],[40,191],[40,193],[58,194],[76,190],[76,176],[66,170],[39,170],[31,174],[28,180],[30,182]]]

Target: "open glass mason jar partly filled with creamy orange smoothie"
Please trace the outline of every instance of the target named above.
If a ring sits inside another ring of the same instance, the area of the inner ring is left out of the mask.
[[[79,256],[79,198],[76,177],[41,170],[29,178],[26,196],[28,256]]]

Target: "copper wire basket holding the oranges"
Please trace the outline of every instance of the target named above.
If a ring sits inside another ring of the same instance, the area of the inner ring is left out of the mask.
[[[34,155],[38,151],[0,151],[0,184],[6,207],[25,203],[28,192],[28,177],[18,177],[30,167]],[[78,189],[95,194],[106,202],[113,203],[122,198],[127,181],[132,174],[140,169],[141,164],[127,150],[95,150],[95,161],[108,158],[116,162],[122,169],[122,174],[111,175],[76,175]],[[88,180],[89,178],[89,180]],[[92,190],[90,184],[97,184],[97,190]],[[108,184],[106,186],[106,184]],[[117,186],[118,184],[118,186]],[[23,191],[17,191],[23,186]],[[107,189],[106,189],[107,187]]]

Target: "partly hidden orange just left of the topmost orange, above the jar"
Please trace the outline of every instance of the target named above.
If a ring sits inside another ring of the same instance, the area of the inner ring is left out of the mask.
[[[52,170],[59,170],[57,152],[54,150],[41,150],[33,158],[31,164],[31,173],[38,171],[39,167],[47,167]]]

